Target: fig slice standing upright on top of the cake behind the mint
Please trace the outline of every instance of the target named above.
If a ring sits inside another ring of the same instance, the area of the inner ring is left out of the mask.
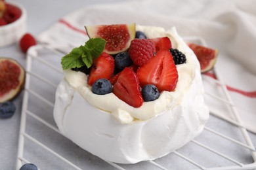
[[[88,25],[85,26],[90,38],[102,38],[106,41],[104,52],[117,54],[127,50],[135,39],[134,24]]]

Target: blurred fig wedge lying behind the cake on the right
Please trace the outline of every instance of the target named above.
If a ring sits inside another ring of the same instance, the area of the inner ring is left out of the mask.
[[[190,42],[187,44],[194,51],[200,62],[201,73],[211,70],[217,61],[218,50]]]

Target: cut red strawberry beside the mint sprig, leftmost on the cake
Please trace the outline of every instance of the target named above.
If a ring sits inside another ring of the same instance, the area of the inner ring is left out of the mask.
[[[98,58],[93,60],[93,65],[91,66],[91,71],[88,76],[88,84],[91,86],[99,78],[110,79],[114,73],[115,61],[110,54],[102,52]]]

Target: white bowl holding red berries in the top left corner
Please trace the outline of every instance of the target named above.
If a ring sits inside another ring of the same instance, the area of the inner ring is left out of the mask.
[[[8,3],[20,8],[20,10],[22,10],[22,15],[20,18],[18,18],[18,20],[12,22],[11,24],[0,26],[0,47],[14,44],[14,42],[19,41],[20,37],[26,33],[26,9],[24,9],[24,7],[18,3]]]

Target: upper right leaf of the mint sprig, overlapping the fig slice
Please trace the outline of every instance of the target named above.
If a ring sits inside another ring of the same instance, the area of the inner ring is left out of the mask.
[[[105,48],[106,41],[100,38],[89,39],[89,41],[85,42],[85,49],[87,55],[92,57],[93,59],[100,56]]]

